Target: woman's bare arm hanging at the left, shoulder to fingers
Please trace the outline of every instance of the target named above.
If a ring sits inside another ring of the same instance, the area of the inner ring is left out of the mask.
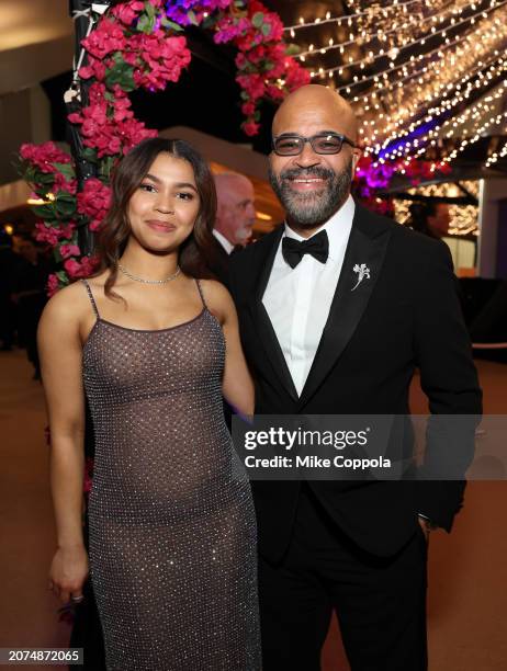
[[[54,296],[38,326],[38,351],[50,428],[50,484],[57,550],[49,588],[63,602],[82,595],[88,556],[82,535],[84,398],[79,285]]]

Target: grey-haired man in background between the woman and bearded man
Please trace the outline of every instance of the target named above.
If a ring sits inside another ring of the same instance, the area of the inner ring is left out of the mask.
[[[256,221],[254,185],[244,174],[215,174],[216,219],[213,227],[214,249],[211,270],[227,284],[229,258],[251,237]]]

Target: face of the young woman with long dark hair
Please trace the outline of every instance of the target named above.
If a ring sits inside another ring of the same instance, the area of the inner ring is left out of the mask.
[[[200,204],[192,166],[164,151],[128,201],[131,235],[153,252],[178,249],[192,232]]]

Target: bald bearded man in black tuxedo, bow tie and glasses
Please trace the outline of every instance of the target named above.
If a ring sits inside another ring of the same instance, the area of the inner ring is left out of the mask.
[[[354,203],[359,157],[354,115],[331,90],[303,87],[278,110],[270,181],[285,225],[233,259],[229,274],[256,413],[408,414],[417,367],[431,413],[477,414],[449,257]],[[465,469],[473,430],[462,450]],[[252,489],[263,671],[318,670],[334,610],[352,671],[426,669],[428,530],[450,531],[464,484]]]

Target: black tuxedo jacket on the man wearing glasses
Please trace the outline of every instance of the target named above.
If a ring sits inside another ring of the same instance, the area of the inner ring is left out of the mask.
[[[256,383],[258,414],[408,414],[416,368],[431,413],[481,413],[481,389],[442,246],[357,204],[352,229],[306,384],[297,396],[262,305],[283,228],[230,260],[229,288]],[[354,289],[356,264],[370,278]],[[315,296],[318,300],[318,296]],[[472,432],[473,439],[473,432]],[[460,455],[463,474],[473,440]],[[463,481],[312,481],[315,494],[356,543],[370,553],[397,551],[417,528],[417,513],[450,531]],[[259,549],[282,558],[300,482],[254,481]]]

